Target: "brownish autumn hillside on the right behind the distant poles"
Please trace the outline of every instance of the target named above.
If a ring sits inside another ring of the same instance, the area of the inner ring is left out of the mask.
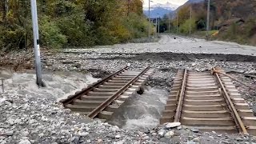
[[[190,6],[192,6],[192,32],[206,30],[207,0],[190,0],[178,7],[178,32],[190,32]],[[175,13],[176,14],[176,13]],[[173,27],[176,26],[173,19]],[[256,1],[212,0],[210,2],[210,30],[218,30],[212,38],[256,45]],[[206,33],[202,33],[205,37]]]

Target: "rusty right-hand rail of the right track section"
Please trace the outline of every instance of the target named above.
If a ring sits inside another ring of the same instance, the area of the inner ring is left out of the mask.
[[[213,70],[215,71],[215,68],[213,68]],[[230,114],[234,118],[234,122],[236,123],[239,133],[248,134],[246,127],[245,127],[244,123],[242,122],[241,117],[238,114],[238,111],[234,107],[234,103],[231,101],[230,95],[226,91],[226,88],[222,82],[222,79],[220,78],[218,73],[214,72],[214,75],[216,76],[218,83],[220,84],[220,86],[222,88],[222,92],[224,92],[224,98],[226,100],[227,105],[230,107],[230,111],[231,111]]]

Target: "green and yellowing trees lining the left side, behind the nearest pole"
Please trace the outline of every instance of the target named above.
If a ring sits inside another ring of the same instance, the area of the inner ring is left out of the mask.
[[[142,0],[38,0],[42,46],[94,46],[146,36]],[[30,0],[0,2],[0,49],[32,45]]]

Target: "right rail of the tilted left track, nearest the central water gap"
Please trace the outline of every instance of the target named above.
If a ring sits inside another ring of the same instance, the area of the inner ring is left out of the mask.
[[[132,84],[134,84],[134,82],[138,80],[138,78],[140,78],[143,74],[145,74],[146,71],[149,69],[150,69],[150,66],[147,66],[146,69],[144,69],[140,74],[138,74],[136,77],[134,77],[129,82],[127,82],[125,86],[122,86],[122,88],[118,90],[118,92],[110,96],[110,98],[106,99],[105,102],[102,102],[100,106],[96,107],[87,116],[90,118],[96,117],[102,110],[106,108],[106,106],[109,106],[111,102],[113,102],[116,98],[118,98],[119,95],[125,92]]]

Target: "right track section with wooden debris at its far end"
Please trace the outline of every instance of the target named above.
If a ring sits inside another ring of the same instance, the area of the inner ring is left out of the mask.
[[[165,122],[181,122],[202,131],[256,135],[253,111],[231,79],[218,73],[179,70],[160,118],[160,123]]]

